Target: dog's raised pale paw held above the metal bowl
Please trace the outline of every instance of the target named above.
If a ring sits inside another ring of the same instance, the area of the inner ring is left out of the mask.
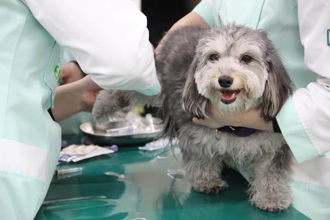
[[[117,97],[114,90],[102,90],[96,96],[92,115],[99,123],[107,123],[111,117],[116,116],[119,110]]]

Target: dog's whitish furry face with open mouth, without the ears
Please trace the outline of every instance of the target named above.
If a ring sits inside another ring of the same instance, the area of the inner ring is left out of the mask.
[[[201,59],[194,76],[195,83],[199,93],[219,110],[246,110],[262,96],[268,71],[266,48],[260,44],[261,37],[251,37],[244,31],[235,34],[220,31],[209,33],[201,41],[197,48]]]

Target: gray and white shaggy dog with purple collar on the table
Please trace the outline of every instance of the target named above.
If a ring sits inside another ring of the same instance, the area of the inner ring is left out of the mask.
[[[162,40],[156,70],[160,94],[123,91],[122,96],[131,104],[160,107],[163,135],[179,139],[192,187],[219,193],[227,187],[221,179],[224,167],[245,166],[251,174],[250,202],[270,212],[287,208],[292,153],[281,134],[217,132],[216,138],[215,129],[192,123],[192,117],[208,117],[211,104],[223,114],[257,108],[265,122],[275,118],[294,88],[267,33],[235,24],[176,29]],[[98,121],[108,121],[119,109],[117,92],[98,94],[92,112]]]

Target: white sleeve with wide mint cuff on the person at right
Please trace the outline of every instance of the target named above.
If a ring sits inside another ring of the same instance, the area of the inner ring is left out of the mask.
[[[293,94],[277,121],[302,163],[330,151],[330,1],[298,0],[297,4],[305,65],[317,79]]]

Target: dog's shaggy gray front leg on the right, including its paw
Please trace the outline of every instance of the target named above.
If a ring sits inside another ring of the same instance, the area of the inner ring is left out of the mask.
[[[253,174],[248,193],[252,204],[270,212],[279,212],[291,204],[287,186],[292,173],[291,158],[289,147],[284,145],[275,155],[265,155],[251,165]]]

